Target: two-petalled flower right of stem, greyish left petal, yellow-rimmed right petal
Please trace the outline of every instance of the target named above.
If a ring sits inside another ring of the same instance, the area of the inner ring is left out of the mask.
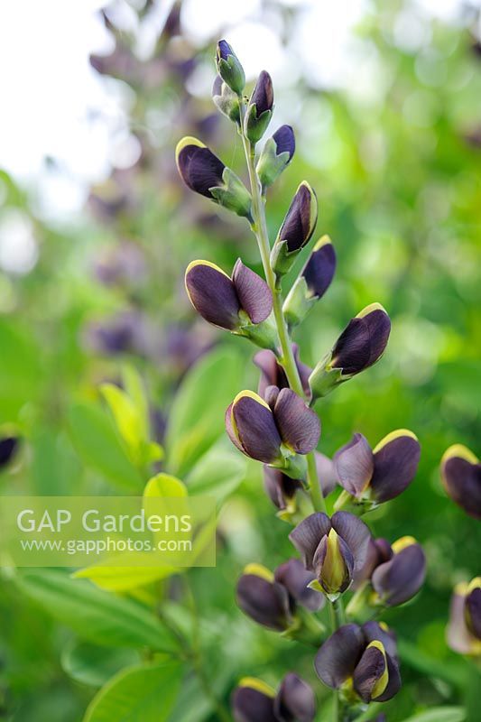
[[[400,495],[414,478],[421,447],[412,431],[398,429],[387,434],[374,450],[360,433],[338,450],[334,466],[345,493],[343,504],[363,504],[367,510]]]

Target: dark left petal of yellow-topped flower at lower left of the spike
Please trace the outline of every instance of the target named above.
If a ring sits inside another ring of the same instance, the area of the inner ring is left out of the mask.
[[[291,626],[287,589],[255,574],[243,574],[237,582],[236,600],[242,611],[259,625],[283,632]]]

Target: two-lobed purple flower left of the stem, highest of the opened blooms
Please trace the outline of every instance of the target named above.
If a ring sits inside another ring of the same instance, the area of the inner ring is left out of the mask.
[[[267,283],[240,259],[232,278],[208,261],[192,261],[185,273],[185,287],[200,316],[221,329],[234,331],[246,323],[261,323],[273,309]]]

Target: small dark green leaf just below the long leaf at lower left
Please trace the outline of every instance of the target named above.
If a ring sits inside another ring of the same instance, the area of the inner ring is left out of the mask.
[[[134,650],[108,649],[77,640],[69,643],[61,655],[62,669],[72,680],[89,687],[101,687],[116,672],[138,662]]]

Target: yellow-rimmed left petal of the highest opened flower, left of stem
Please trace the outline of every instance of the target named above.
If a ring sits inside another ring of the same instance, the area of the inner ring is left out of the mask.
[[[231,279],[207,261],[194,261],[185,274],[185,286],[192,306],[203,319],[221,329],[239,325],[240,303]]]

